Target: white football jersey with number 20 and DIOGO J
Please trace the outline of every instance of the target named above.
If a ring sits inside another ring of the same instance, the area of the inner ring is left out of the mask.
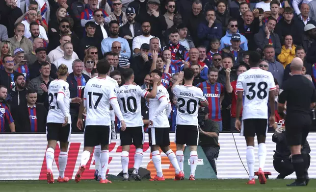
[[[176,85],[172,92],[177,97],[176,124],[198,125],[199,101],[207,101],[202,90],[194,86]]]

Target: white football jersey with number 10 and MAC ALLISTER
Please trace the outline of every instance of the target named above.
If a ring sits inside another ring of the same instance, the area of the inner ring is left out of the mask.
[[[117,90],[117,100],[127,127],[144,125],[141,118],[140,99],[141,97],[145,98],[148,93],[148,91],[133,84],[124,84]]]

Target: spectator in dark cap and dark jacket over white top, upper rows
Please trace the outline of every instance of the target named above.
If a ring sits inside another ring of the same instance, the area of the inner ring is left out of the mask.
[[[126,39],[130,48],[132,49],[133,38],[141,35],[141,24],[135,21],[135,9],[133,7],[128,7],[126,9],[126,17],[128,22],[120,27],[119,36]]]

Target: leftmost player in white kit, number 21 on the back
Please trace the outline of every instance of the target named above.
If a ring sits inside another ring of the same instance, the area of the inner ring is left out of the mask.
[[[53,80],[48,87],[49,112],[47,115],[47,182],[54,183],[52,166],[54,161],[54,150],[57,141],[60,142],[59,177],[57,182],[68,182],[69,178],[64,176],[68,159],[68,144],[71,134],[71,118],[69,113],[69,103],[80,103],[81,98],[70,99],[69,84],[67,83],[68,68],[62,64],[57,70],[58,79]]]

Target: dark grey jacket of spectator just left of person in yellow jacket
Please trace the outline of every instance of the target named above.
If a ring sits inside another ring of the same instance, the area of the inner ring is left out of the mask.
[[[270,34],[270,39],[272,41],[272,46],[274,48],[275,56],[278,56],[281,53],[281,42],[279,35],[276,33]],[[264,46],[269,45],[269,39],[266,38],[264,28],[255,34],[254,40],[258,46],[263,51]]]

